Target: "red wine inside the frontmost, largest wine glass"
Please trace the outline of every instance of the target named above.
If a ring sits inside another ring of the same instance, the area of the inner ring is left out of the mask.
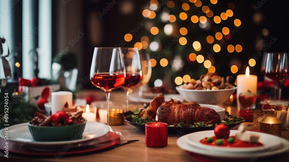
[[[95,73],[91,82],[97,88],[112,90],[120,87],[125,82],[125,75],[118,73]]]

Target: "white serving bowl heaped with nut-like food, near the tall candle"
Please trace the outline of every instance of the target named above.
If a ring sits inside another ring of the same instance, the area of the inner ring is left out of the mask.
[[[183,89],[177,86],[176,89],[179,94],[188,102],[217,105],[227,101],[237,88],[233,86],[232,89],[194,90]]]

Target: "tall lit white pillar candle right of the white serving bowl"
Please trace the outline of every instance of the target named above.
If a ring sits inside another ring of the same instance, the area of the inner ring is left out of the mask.
[[[240,101],[239,97],[241,93],[248,94],[248,90],[251,92],[253,96],[255,96],[255,101],[256,101],[256,95],[257,95],[257,76],[255,75],[249,75],[249,67],[246,69],[246,74],[245,75],[238,75],[237,76],[237,106],[238,109],[240,108]],[[249,96],[247,96],[249,97]],[[246,103],[250,104],[251,100],[248,100]],[[244,105],[244,103],[243,103]],[[241,107],[245,108],[244,106],[241,105]],[[247,107],[246,107],[247,108]],[[253,107],[255,108],[255,107]]]

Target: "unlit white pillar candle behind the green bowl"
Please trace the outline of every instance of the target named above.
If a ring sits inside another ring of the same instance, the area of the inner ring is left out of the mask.
[[[51,93],[51,113],[62,110],[64,105],[68,103],[68,107],[72,109],[72,93],[68,91],[59,91]]]

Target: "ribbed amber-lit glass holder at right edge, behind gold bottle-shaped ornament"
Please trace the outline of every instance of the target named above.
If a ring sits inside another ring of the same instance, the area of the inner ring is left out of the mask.
[[[274,109],[277,111],[277,118],[282,122],[282,130],[288,129],[289,124],[289,106],[275,105]]]

